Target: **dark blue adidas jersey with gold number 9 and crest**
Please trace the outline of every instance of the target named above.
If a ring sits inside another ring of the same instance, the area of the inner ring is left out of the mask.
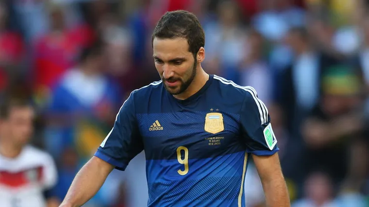
[[[178,100],[162,81],[135,90],[95,156],[124,170],[142,150],[151,207],[243,207],[250,154],[278,151],[264,103],[252,87],[210,75]]]

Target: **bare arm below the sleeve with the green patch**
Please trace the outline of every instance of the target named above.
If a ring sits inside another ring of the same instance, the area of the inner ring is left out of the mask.
[[[288,191],[283,177],[278,154],[271,156],[252,155],[263,185],[268,207],[290,207]]]

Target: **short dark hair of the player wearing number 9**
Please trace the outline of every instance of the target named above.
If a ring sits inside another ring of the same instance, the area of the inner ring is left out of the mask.
[[[189,52],[194,55],[201,47],[205,46],[205,33],[199,19],[194,14],[184,10],[165,13],[152,32],[151,44],[155,37],[161,39],[185,38]]]

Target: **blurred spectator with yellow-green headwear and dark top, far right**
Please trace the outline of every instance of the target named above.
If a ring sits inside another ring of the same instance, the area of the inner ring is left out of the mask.
[[[348,173],[350,144],[361,138],[361,81],[351,68],[335,66],[322,76],[322,97],[303,124],[306,172],[325,170],[337,185]],[[353,161],[353,160],[351,160]]]

